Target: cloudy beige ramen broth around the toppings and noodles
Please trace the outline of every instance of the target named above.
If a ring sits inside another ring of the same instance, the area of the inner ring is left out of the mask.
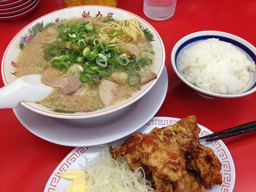
[[[65,20],[61,21],[60,24],[51,26],[37,33],[30,42],[26,43],[23,50],[18,55],[17,59],[17,77],[30,75],[30,74],[44,74],[45,71],[51,71],[56,75],[61,75],[62,73],[52,67],[52,63],[49,60],[44,59],[44,43],[51,42],[56,39],[59,35],[58,26],[63,23],[76,22],[77,20]],[[101,22],[102,20],[94,19],[94,22]],[[97,26],[96,26],[97,27]],[[145,41],[145,39],[138,38],[136,41],[131,41],[138,51],[133,53],[136,59],[141,57],[143,53],[145,56],[150,58],[154,63],[154,51],[152,45]],[[125,52],[125,51],[124,51]],[[81,64],[80,64],[81,65]],[[83,63],[82,63],[83,66]],[[153,65],[143,67],[147,70],[151,70]],[[113,93],[113,98],[109,105],[114,105],[124,99],[131,97],[131,95],[140,89],[141,83],[137,86],[130,86],[127,84],[127,80],[118,81],[118,73],[122,71],[115,71],[110,77],[100,76],[100,80],[108,79],[116,84],[115,91]],[[79,74],[78,74],[79,76]],[[142,77],[141,77],[142,78]],[[151,81],[151,80],[150,80]],[[42,81],[44,83],[44,81]],[[73,113],[76,111],[93,111],[103,107],[106,107],[105,103],[99,96],[99,84],[81,83],[79,89],[75,92],[63,94],[62,90],[55,87],[54,91],[45,97],[38,103],[45,107],[48,107],[54,111],[60,113]],[[109,106],[107,105],[107,106]]]

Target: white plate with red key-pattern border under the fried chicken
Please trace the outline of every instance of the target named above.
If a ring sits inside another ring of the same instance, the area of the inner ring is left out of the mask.
[[[179,118],[173,117],[153,117],[150,119],[145,126],[141,127],[141,129],[137,130],[136,132],[148,133],[154,127],[163,127],[173,125],[179,121]],[[206,127],[202,125],[198,125],[201,128],[201,133],[199,133],[199,137],[202,137],[206,134],[213,133]],[[127,138],[131,135],[119,139],[117,141],[109,143],[109,145],[113,147],[117,147],[121,145]],[[201,142],[204,146],[209,147],[214,150],[215,155],[220,159],[222,163],[221,173],[222,173],[222,185],[221,186],[213,186],[212,189],[206,189],[207,192],[232,192],[235,186],[235,165],[233,162],[233,158],[229,153],[228,148],[226,145],[221,141],[213,141],[213,142]],[[102,146],[93,146],[93,147],[76,147],[73,149],[66,158],[57,166],[57,168],[53,171],[51,177],[49,178],[44,192],[55,191],[55,192],[63,192],[65,188],[68,187],[70,181],[61,179],[54,175],[54,173],[62,173],[66,170],[72,169],[81,169],[80,165],[85,164],[85,158],[94,158],[102,151]]]

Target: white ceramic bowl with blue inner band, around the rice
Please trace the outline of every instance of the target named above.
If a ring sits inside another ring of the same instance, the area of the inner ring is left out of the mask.
[[[188,49],[192,45],[198,43],[199,41],[204,41],[209,38],[217,38],[219,41],[224,41],[233,44],[237,47],[238,50],[242,51],[247,59],[256,63],[256,48],[249,42],[245,41],[241,37],[238,37],[233,34],[225,33],[222,31],[198,31],[196,33],[189,34],[183,38],[181,38],[173,47],[171,53],[171,62],[174,72],[181,79],[183,83],[188,85],[191,89],[193,89],[197,94],[201,95],[204,98],[238,98],[243,97],[245,95],[249,95],[256,91],[256,71],[252,74],[251,82],[242,90],[241,93],[237,94],[219,94],[213,93],[210,91],[205,91],[193,84],[191,84],[187,79],[182,75],[179,69],[179,60],[181,54],[184,50]],[[256,64],[255,64],[256,65]]]

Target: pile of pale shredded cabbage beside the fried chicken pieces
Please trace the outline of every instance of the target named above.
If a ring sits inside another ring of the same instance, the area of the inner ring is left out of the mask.
[[[90,192],[148,192],[155,191],[145,178],[145,172],[139,167],[134,173],[124,157],[113,159],[105,148],[96,159],[83,167],[87,174],[87,190]]]

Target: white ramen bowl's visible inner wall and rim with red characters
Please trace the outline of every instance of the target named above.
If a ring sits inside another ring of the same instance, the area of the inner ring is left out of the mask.
[[[145,32],[150,33],[151,37],[153,37],[153,39],[151,39],[151,44],[153,45],[153,49],[155,52],[153,72],[157,75],[157,78],[145,85],[142,85],[141,89],[135,92],[129,99],[123,100],[113,106],[105,107],[91,112],[79,112],[73,114],[56,113],[53,110],[39,105],[35,102],[21,102],[22,106],[32,111],[35,111],[38,114],[56,118],[81,119],[99,117],[130,106],[132,103],[142,98],[143,95],[145,95],[155,85],[163,71],[165,64],[165,49],[161,37],[147,21],[143,20],[138,15],[135,15],[129,11],[118,9],[116,7],[108,7],[102,5],[68,7],[66,9],[46,14],[23,28],[12,39],[11,43],[7,46],[7,49],[4,53],[2,60],[2,77],[4,84],[7,85],[17,78],[15,76],[15,66],[17,65],[17,57],[21,51],[19,48],[20,44],[26,44],[27,41],[30,40],[30,38],[33,38],[33,31],[35,31],[36,27],[39,27],[40,30],[44,30],[46,26],[57,23],[63,19],[100,17],[100,15],[105,15],[114,19],[116,18],[116,20],[129,20],[132,18],[138,19],[142,30],[146,30]]]

